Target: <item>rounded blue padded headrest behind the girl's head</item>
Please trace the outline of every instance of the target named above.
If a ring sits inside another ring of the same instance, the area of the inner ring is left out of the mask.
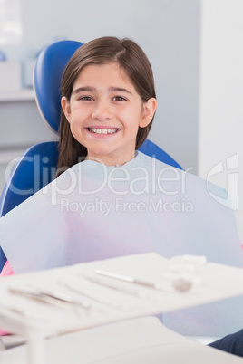
[[[35,98],[41,115],[57,132],[61,110],[61,79],[67,62],[83,43],[61,41],[48,45],[34,66]]]

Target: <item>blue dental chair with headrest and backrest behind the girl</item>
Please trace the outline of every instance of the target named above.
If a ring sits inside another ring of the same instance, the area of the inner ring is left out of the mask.
[[[34,91],[38,109],[49,126],[58,133],[61,110],[61,79],[66,63],[83,43],[61,41],[52,43],[39,54],[34,67]],[[139,150],[170,166],[180,165],[164,150],[146,139]],[[26,198],[50,183],[55,177],[58,142],[48,141],[29,148],[16,163],[0,196],[0,217]],[[0,247],[0,272],[6,257]]]

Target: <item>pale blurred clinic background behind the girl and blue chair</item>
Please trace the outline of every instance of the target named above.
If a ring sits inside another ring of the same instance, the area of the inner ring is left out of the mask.
[[[14,43],[3,36],[6,2],[19,16]],[[190,173],[228,189],[243,242],[242,18],[242,0],[0,0],[0,52],[21,66],[19,90],[0,79],[0,190],[9,161],[56,139],[34,102],[36,55],[61,39],[129,37],[154,72],[158,110],[149,138]]]

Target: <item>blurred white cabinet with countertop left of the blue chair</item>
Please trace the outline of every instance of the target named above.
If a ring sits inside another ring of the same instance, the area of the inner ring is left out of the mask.
[[[0,92],[0,191],[8,163],[30,146],[57,139],[42,119],[34,91]]]

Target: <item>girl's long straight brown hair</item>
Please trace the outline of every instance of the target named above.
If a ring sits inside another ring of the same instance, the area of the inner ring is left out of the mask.
[[[73,84],[83,67],[89,64],[107,64],[111,62],[117,62],[127,74],[141,96],[141,101],[147,102],[151,98],[156,98],[151,63],[146,54],[137,43],[130,39],[118,39],[116,37],[98,38],[78,48],[63,72],[62,97],[65,96],[70,101]],[[139,127],[136,149],[140,148],[147,138],[152,120],[147,127]],[[65,169],[85,159],[86,156],[87,149],[73,138],[69,122],[66,120],[63,110],[61,110],[57,176],[63,173]]]

